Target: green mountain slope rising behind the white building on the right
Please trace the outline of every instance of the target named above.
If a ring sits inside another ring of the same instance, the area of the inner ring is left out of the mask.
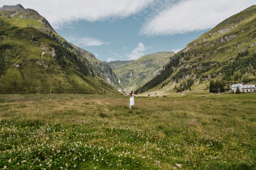
[[[136,93],[204,89],[211,79],[249,83],[255,68],[256,6],[251,6],[188,44]]]

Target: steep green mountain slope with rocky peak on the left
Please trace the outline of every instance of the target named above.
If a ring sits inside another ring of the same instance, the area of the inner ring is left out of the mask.
[[[0,93],[116,93],[35,10],[0,8]]]

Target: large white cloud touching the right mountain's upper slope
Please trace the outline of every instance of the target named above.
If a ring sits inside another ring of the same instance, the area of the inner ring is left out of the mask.
[[[255,0],[181,0],[144,24],[142,35],[174,35],[215,27]]]

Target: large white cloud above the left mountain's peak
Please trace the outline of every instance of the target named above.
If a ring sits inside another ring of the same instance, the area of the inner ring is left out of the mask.
[[[85,19],[95,22],[110,18],[126,18],[137,14],[156,0],[1,0],[2,5],[20,3],[37,10],[53,27]]]

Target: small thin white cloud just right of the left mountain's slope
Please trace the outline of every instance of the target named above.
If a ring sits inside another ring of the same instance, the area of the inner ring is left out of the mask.
[[[89,37],[83,37],[83,38],[67,37],[66,39],[79,47],[100,46],[100,45],[107,44],[99,39],[94,39]]]

